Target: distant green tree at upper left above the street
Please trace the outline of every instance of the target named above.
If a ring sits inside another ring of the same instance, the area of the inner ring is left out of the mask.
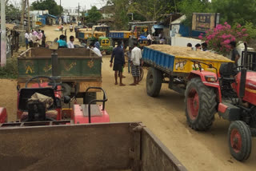
[[[58,6],[58,4],[54,0],[40,0],[32,3],[32,10],[49,10],[49,14],[52,15],[61,15],[63,12],[62,6]]]

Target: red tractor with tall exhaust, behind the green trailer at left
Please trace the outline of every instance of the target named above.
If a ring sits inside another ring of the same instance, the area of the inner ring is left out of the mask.
[[[53,45],[53,50],[58,49],[58,45]],[[84,124],[91,122],[110,122],[110,117],[106,113],[105,102],[106,93],[101,87],[90,87],[99,89],[103,93],[102,100],[93,99],[88,104],[78,105],[70,108],[70,102],[76,97],[64,96],[65,89],[62,87],[60,77],[58,77],[58,54],[52,54],[52,77],[37,76],[30,78],[25,88],[18,87],[18,112],[17,122],[7,123],[6,109],[0,108],[0,126],[15,125],[70,125]],[[28,86],[31,87],[28,87]],[[65,88],[65,87],[64,87]],[[102,102],[97,105],[96,102]],[[63,108],[65,105],[68,108]]]

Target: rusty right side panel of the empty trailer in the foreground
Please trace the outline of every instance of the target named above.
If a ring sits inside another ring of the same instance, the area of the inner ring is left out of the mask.
[[[147,128],[142,130],[142,171],[187,171],[185,166]]]

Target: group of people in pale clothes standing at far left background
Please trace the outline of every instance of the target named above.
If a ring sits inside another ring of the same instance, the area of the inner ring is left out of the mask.
[[[28,47],[44,47],[46,43],[46,35],[42,30],[26,30],[25,33],[26,49]]]

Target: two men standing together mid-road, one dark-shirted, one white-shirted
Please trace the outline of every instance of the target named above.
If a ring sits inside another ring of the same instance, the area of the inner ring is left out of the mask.
[[[131,74],[134,77],[134,82],[130,85],[138,85],[139,77],[140,77],[140,66],[142,63],[142,50],[138,48],[138,42],[134,42],[134,48],[130,48],[129,52],[127,53],[129,58],[128,65],[131,66]],[[113,65],[114,60],[114,65]],[[118,76],[120,79],[119,85],[124,86],[125,84],[122,83],[122,73],[123,69],[126,65],[125,62],[125,54],[122,48],[122,42],[118,42],[118,46],[114,48],[111,59],[110,59],[110,67],[113,67],[114,70],[114,79],[115,85],[118,85]],[[129,70],[128,66],[128,70]]]

